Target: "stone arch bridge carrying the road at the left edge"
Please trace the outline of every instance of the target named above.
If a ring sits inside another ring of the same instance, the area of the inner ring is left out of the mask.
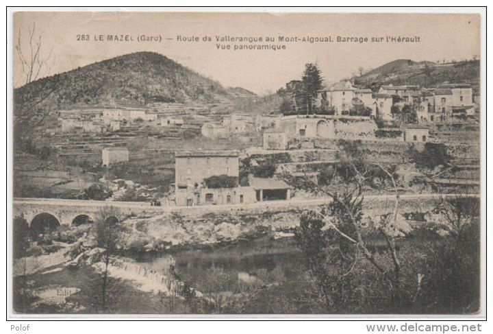
[[[105,207],[117,208],[124,216],[142,215],[145,213],[162,213],[162,207],[151,206],[147,202],[104,202],[92,200],[59,200],[51,198],[14,198],[13,217],[23,216],[31,226],[34,218],[48,214],[55,217],[60,225],[72,225],[77,217],[86,216],[92,221],[99,211]]]

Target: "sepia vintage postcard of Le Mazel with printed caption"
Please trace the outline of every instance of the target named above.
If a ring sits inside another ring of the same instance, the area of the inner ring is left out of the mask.
[[[14,11],[12,317],[484,315],[480,32]]]

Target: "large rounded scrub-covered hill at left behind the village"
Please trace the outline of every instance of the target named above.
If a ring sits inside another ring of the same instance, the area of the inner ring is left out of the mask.
[[[53,90],[53,91],[51,91]],[[144,106],[150,102],[234,99],[218,82],[153,52],[131,53],[45,77],[14,91],[16,106],[43,99],[51,108]],[[250,93],[250,92],[248,92]],[[45,98],[46,97],[46,98]]]

